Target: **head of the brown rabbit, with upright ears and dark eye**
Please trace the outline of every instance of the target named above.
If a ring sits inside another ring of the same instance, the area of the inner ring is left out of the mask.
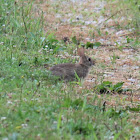
[[[85,65],[87,67],[91,67],[95,64],[95,60],[91,59],[90,57],[85,55],[85,49],[79,48],[78,49],[78,55],[80,56],[80,65]]]

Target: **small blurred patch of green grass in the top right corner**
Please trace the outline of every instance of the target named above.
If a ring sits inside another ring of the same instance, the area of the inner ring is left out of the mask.
[[[127,24],[121,24],[119,25],[120,29],[131,29],[134,28],[134,31],[139,34],[140,29],[140,18],[139,18],[139,11],[140,11],[140,1],[138,0],[122,0],[120,1],[113,1],[108,0],[109,3],[113,5],[108,7],[106,10],[111,10],[111,12],[116,13],[112,17],[113,19],[127,18]],[[124,22],[125,23],[125,22]],[[119,29],[118,28],[118,29]]]

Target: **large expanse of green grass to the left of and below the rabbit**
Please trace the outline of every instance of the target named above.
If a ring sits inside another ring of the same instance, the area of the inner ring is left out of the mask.
[[[75,44],[67,48],[45,33],[33,4],[0,1],[0,139],[138,139],[140,128],[130,121],[138,105],[128,109],[116,97],[108,106],[110,95],[99,98],[92,89],[51,77],[43,65],[73,61],[55,56]]]

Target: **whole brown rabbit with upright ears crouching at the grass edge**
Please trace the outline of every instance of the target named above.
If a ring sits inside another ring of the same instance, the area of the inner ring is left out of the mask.
[[[84,48],[78,49],[78,55],[80,56],[79,63],[55,65],[50,68],[52,74],[66,81],[76,80],[76,74],[80,79],[85,78],[89,72],[89,68],[95,64],[95,61],[85,55]]]

